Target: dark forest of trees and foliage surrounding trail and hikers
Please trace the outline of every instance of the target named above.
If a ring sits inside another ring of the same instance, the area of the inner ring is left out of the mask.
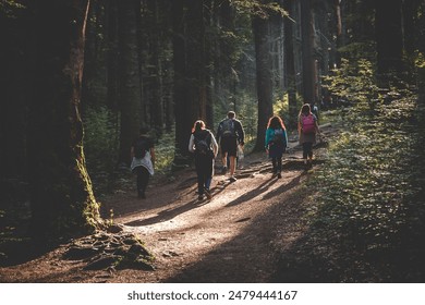
[[[197,119],[215,131],[234,110],[247,149],[259,151],[269,117],[294,131],[309,102],[345,129],[331,172],[315,182],[324,206],[342,204],[320,219],[355,227],[361,248],[418,241],[424,9],[422,0],[2,0],[2,239],[22,223],[51,240],[106,225],[96,196],[127,170],[141,126],[167,173],[191,161]]]

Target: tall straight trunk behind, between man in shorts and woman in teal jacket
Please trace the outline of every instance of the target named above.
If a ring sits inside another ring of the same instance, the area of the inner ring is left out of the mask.
[[[258,96],[258,124],[257,142],[254,151],[264,150],[264,141],[268,119],[272,110],[272,78],[269,50],[268,21],[257,16],[253,17],[253,33],[255,41],[255,60]]]

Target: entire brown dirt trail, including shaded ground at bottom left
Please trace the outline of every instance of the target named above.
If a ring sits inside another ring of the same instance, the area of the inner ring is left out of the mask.
[[[247,156],[236,182],[214,176],[211,200],[197,200],[193,168],[167,183],[151,183],[146,199],[138,199],[132,187],[104,199],[104,210],[113,209],[113,220],[155,255],[154,271],[83,270],[81,261],[62,259],[64,245],[0,268],[0,281],[271,282],[276,248],[289,247],[307,229],[302,224],[305,203],[295,192],[308,176],[300,158],[299,150],[286,154],[282,179],[271,179],[265,154]]]

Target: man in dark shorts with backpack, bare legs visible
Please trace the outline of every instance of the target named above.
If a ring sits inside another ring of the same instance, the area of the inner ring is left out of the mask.
[[[222,173],[226,173],[227,159],[229,157],[229,170],[230,170],[230,181],[234,182],[234,172],[236,170],[236,156],[238,156],[238,145],[243,149],[245,133],[241,121],[236,120],[236,114],[234,111],[229,111],[227,119],[222,120],[218,124],[217,138],[219,139],[221,147],[221,160],[222,160]]]

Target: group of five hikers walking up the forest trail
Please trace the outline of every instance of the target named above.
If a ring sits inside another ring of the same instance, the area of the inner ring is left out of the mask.
[[[136,187],[139,198],[145,198],[149,176],[154,174],[155,150],[153,141],[147,136],[147,130],[142,129],[139,137],[133,143],[131,170],[136,173]],[[317,114],[312,113],[311,106],[304,103],[298,117],[299,142],[303,147],[305,169],[312,168],[313,145],[316,136],[320,136]],[[211,199],[210,185],[214,176],[215,159],[219,147],[222,161],[222,174],[229,173],[229,181],[235,182],[238,152],[243,152],[245,133],[241,121],[236,120],[234,111],[229,111],[227,118],[218,124],[216,136],[206,129],[203,120],[195,121],[189,139],[189,151],[194,154],[197,195],[203,200],[204,195]],[[282,178],[282,156],[288,147],[288,133],[283,120],[279,115],[269,119],[265,150],[271,160],[272,178]]]

